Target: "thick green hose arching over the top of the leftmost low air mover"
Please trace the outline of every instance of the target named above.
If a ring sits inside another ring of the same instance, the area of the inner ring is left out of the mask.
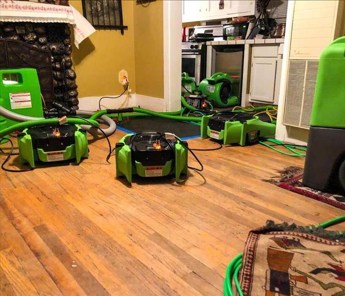
[[[90,120],[92,123],[99,126],[100,124],[96,120]],[[84,120],[79,118],[69,118],[67,117],[67,123],[69,124],[87,124]],[[59,124],[59,118],[48,118],[48,119],[39,119],[39,120],[29,120],[16,123],[10,127],[4,128],[0,131],[0,138],[9,135],[15,131],[22,131],[28,127],[37,126],[37,125],[56,125]]]

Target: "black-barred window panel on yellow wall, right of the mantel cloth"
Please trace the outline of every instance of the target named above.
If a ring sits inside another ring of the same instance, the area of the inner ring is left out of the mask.
[[[84,17],[96,29],[127,29],[123,25],[121,0],[82,0]]]

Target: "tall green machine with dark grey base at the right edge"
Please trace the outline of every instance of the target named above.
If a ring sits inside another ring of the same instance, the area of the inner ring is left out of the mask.
[[[345,190],[345,36],[320,57],[303,184]]]

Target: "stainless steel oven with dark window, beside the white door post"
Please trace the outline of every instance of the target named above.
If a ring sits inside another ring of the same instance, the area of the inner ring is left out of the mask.
[[[205,42],[182,42],[182,72],[193,77],[196,85],[206,78]]]

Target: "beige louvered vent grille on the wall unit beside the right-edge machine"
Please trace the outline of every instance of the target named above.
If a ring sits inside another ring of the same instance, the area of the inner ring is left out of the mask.
[[[290,60],[283,124],[309,129],[314,100],[317,60]]]

